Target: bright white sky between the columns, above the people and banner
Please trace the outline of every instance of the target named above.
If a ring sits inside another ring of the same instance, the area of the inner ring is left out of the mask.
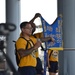
[[[0,23],[5,22],[5,1],[0,0]],[[29,21],[35,13],[41,13],[48,23],[53,23],[57,17],[57,0],[20,0],[21,22]]]

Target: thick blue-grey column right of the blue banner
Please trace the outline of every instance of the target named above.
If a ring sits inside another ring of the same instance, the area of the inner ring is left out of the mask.
[[[64,51],[59,52],[59,75],[75,75],[75,0],[58,0],[58,15],[63,16]],[[73,49],[74,48],[74,49]]]

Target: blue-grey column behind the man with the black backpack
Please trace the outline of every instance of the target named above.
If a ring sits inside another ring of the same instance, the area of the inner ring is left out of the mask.
[[[12,41],[17,40],[20,34],[20,0],[6,0],[6,22],[14,23],[16,25],[16,30],[10,32],[8,36],[7,54],[17,69],[14,53],[14,43]]]

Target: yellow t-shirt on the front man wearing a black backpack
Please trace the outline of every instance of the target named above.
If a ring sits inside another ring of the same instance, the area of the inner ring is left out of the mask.
[[[33,40],[34,44],[37,42],[37,39],[34,38],[33,36],[31,36],[30,39]],[[29,40],[29,42],[31,43],[31,45],[33,47],[33,43],[30,40]],[[17,50],[19,50],[19,49],[26,50],[26,45],[27,45],[27,41],[23,38],[19,38],[16,42]],[[28,43],[28,48],[31,48],[29,43]],[[19,63],[19,67],[24,67],[24,66],[35,67],[36,64],[37,64],[37,62],[36,62],[35,51],[33,51],[31,54],[21,58],[20,63]]]

